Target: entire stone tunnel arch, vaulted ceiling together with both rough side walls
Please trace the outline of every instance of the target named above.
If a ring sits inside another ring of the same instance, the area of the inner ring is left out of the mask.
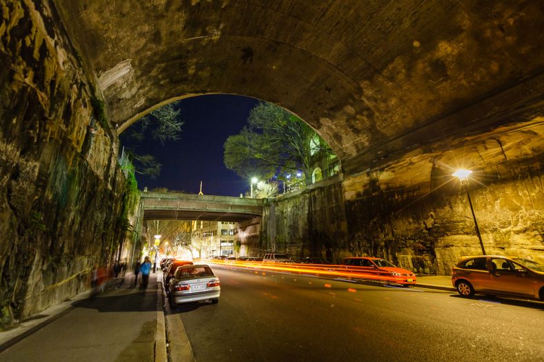
[[[93,109],[122,129],[180,94],[266,99],[329,142],[342,183],[267,211],[306,205],[307,218],[293,219],[316,248],[449,272],[478,252],[474,227],[458,189],[432,191],[449,177],[441,164],[465,159],[487,177],[473,198],[491,251],[544,259],[538,1],[7,3],[2,326],[80,292],[90,266],[113,254],[122,228],[104,210],[122,214],[124,179],[110,125],[88,132]]]

